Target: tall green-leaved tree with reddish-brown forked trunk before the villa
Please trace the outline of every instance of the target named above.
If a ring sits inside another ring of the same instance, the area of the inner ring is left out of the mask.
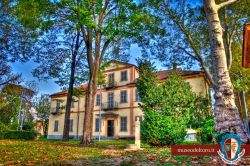
[[[145,29],[144,23],[150,20],[132,0],[78,1],[74,7],[77,20],[80,20],[89,69],[81,140],[81,144],[89,144],[92,139],[94,97],[100,65],[107,57],[107,51],[117,51],[115,46],[119,46],[116,55],[126,54],[122,48],[128,48],[138,32]],[[130,39],[130,42],[125,42],[125,39]]]

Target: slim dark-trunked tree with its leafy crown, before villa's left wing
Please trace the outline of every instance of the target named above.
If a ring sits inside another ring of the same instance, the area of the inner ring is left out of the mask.
[[[58,16],[59,17],[59,16]],[[61,17],[59,17],[61,18]],[[43,40],[38,42],[36,62],[40,62],[33,75],[47,80],[58,79],[56,83],[61,86],[68,86],[66,111],[64,118],[63,140],[69,139],[70,110],[72,103],[73,87],[79,86],[87,79],[85,49],[81,43],[83,39],[80,30],[74,23],[61,27],[62,21],[54,23]],[[63,34],[63,38],[62,38]]]

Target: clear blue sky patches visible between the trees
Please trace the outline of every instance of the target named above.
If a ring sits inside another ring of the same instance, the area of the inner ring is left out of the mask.
[[[130,48],[130,60],[129,63],[136,64],[136,59],[141,57],[140,48],[137,45],[132,45]],[[54,80],[39,81],[37,78],[32,76],[32,70],[36,68],[37,64],[29,61],[27,63],[15,62],[10,64],[13,73],[21,73],[24,83],[26,81],[35,81],[37,83],[38,95],[40,94],[53,94],[61,91],[60,86],[54,83]],[[159,61],[155,61],[155,65],[158,70],[166,69],[161,65]]]

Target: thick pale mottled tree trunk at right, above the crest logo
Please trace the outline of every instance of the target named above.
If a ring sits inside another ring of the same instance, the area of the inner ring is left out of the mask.
[[[227,68],[225,47],[223,44],[223,29],[220,24],[218,10],[235,0],[217,5],[215,0],[204,0],[206,18],[211,44],[211,56],[213,58],[214,81],[215,81],[215,130],[222,132],[237,133],[241,140],[248,141],[244,125],[235,105],[233,86]]]

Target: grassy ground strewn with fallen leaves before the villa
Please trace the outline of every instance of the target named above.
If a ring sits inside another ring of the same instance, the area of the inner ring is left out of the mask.
[[[219,165],[210,157],[172,157],[168,147],[126,152],[131,141],[101,141],[80,146],[79,141],[0,140],[1,165]],[[207,164],[204,164],[207,163]]]

